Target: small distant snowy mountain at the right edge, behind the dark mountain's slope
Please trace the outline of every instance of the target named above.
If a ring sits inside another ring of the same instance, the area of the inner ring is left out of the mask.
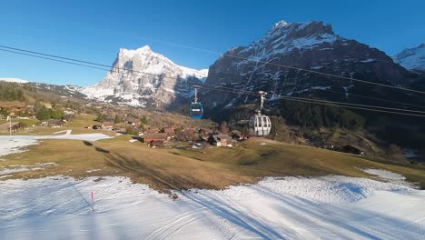
[[[406,69],[425,71],[425,44],[405,49],[392,56],[392,59]]]

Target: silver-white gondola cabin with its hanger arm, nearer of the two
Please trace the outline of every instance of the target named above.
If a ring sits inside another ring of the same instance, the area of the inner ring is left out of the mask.
[[[260,108],[255,110],[257,112],[256,115],[253,115],[250,118],[249,126],[250,126],[250,134],[257,136],[266,136],[270,134],[270,129],[272,128],[272,122],[267,115],[262,115],[262,105],[264,104],[264,96],[267,95],[266,92],[259,91],[260,95]]]

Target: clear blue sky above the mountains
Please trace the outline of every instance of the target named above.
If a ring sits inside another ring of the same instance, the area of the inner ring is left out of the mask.
[[[208,68],[274,23],[318,20],[337,35],[393,55],[425,43],[423,0],[3,1],[0,45],[112,65],[118,49],[150,45],[179,65]],[[175,45],[165,44],[173,43]],[[0,52],[0,77],[91,85],[104,71]]]

